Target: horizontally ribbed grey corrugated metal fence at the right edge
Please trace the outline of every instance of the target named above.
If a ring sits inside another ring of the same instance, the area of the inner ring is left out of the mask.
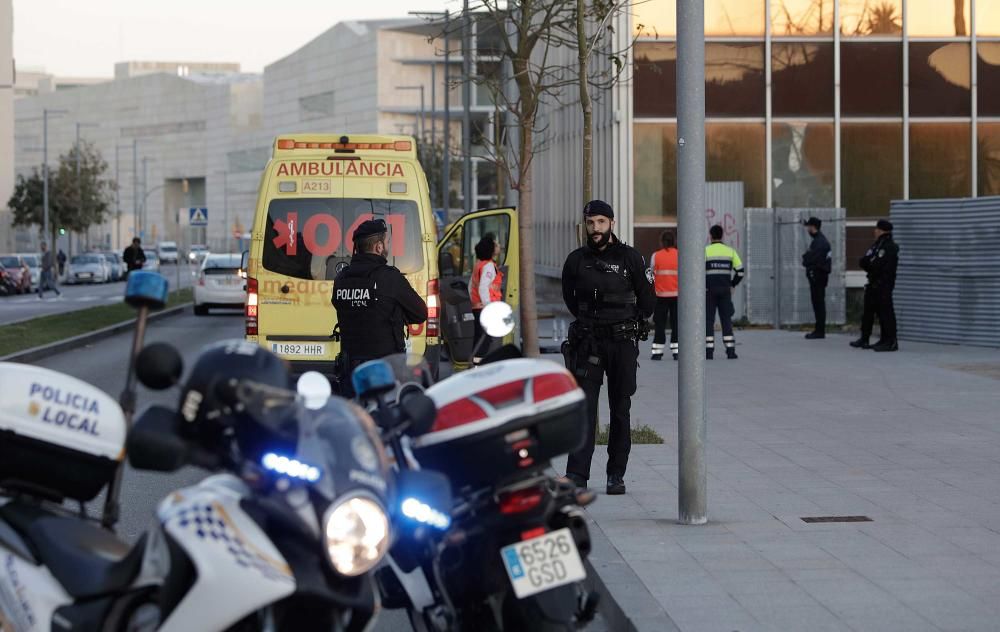
[[[1000,197],[892,203],[899,337],[1000,347]]]

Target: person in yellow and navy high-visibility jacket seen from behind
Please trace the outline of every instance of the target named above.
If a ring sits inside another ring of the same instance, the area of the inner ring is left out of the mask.
[[[712,226],[708,234],[712,243],[705,246],[705,357],[711,360],[715,353],[715,312],[718,311],[726,357],[735,360],[733,290],[743,280],[743,262],[735,250],[722,243],[722,226]]]

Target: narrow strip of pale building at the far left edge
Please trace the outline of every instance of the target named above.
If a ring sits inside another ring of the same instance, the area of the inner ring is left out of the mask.
[[[14,191],[14,6],[0,0],[0,250],[11,243],[7,200]]]

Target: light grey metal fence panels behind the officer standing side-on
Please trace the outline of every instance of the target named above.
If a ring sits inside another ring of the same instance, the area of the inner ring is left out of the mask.
[[[823,234],[833,256],[830,281],[826,288],[826,321],[842,325],[846,320],[847,295],[844,289],[844,244],[847,238],[844,209],[835,208],[748,208],[747,235],[747,318],[755,324],[806,325],[814,321],[809,298],[809,280],[802,267],[802,254],[812,237],[802,222],[810,217],[823,221]],[[776,243],[777,242],[777,243]],[[775,295],[775,269],[777,287]],[[775,314],[780,313],[780,323]]]

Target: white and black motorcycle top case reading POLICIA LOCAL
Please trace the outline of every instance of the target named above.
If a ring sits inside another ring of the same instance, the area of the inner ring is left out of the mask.
[[[57,371],[0,362],[0,487],[91,500],[125,450],[121,407]]]

